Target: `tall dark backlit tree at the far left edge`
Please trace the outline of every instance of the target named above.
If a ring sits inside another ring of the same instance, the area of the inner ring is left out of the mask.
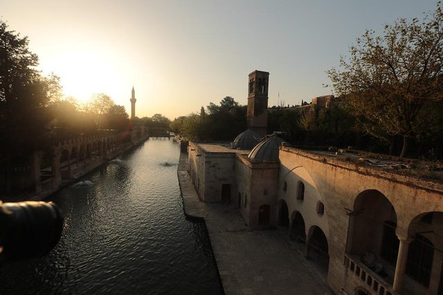
[[[6,172],[6,191],[10,191],[12,162],[28,162],[29,155],[47,142],[51,120],[47,106],[53,88],[35,70],[37,64],[28,38],[0,21],[0,166]]]

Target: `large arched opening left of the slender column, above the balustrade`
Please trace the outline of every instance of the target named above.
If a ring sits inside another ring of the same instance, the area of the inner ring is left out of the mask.
[[[395,235],[397,213],[390,200],[376,189],[362,191],[354,200],[350,218],[350,252],[374,254],[395,266],[399,247]]]

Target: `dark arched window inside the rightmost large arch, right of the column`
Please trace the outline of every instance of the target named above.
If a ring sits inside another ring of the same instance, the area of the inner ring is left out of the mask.
[[[424,236],[417,235],[409,245],[406,274],[424,287],[428,287],[433,259],[433,243]]]

